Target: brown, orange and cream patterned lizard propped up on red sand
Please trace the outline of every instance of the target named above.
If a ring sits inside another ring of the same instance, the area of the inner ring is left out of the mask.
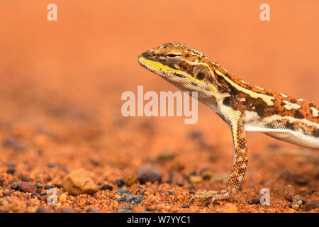
[[[248,84],[203,52],[166,43],[138,56],[138,62],[220,116],[233,136],[234,162],[226,188],[196,192],[194,199],[228,199],[237,193],[247,170],[246,132],[261,132],[306,148],[319,148],[319,105],[306,99]]]

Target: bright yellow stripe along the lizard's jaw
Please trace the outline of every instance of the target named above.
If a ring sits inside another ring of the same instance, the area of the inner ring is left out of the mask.
[[[205,84],[205,82],[198,80],[195,77],[192,77],[190,74],[188,74],[186,72],[183,72],[181,70],[175,70],[175,69],[168,67],[167,65],[163,65],[162,63],[159,63],[159,62],[147,60],[145,57],[138,57],[138,61],[142,65],[146,65],[147,67],[151,67],[155,70],[160,70],[162,72],[166,72],[166,73],[170,73],[170,74],[174,74],[174,73],[181,74],[181,75],[185,76],[186,79],[188,79],[190,82],[194,82],[195,84],[198,84],[198,85]],[[208,87],[209,87],[209,89],[211,89],[212,92],[216,92],[216,88],[213,87],[213,85],[208,84]]]

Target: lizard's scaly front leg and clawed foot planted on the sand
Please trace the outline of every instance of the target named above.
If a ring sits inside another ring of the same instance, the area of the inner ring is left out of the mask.
[[[213,201],[228,199],[234,196],[239,189],[248,164],[247,140],[242,119],[240,117],[235,117],[235,119],[233,118],[233,121],[230,123],[230,127],[233,133],[235,160],[230,172],[230,176],[228,177],[226,189],[218,192],[197,192],[191,197],[189,202],[193,201],[194,199],[211,199],[211,203],[213,203]]]

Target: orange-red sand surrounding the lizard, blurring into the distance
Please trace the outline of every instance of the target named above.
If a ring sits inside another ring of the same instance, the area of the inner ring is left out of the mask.
[[[0,177],[4,184],[10,187],[12,179],[23,181],[22,175],[34,183],[61,184],[67,171],[81,167],[91,172],[96,184],[112,184],[113,190],[67,196],[56,210],[94,206],[113,212],[126,205],[113,198],[116,179],[148,164],[159,169],[163,180],[173,170],[175,176],[171,184],[129,187],[133,193],[140,189],[145,194],[133,211],[145,211],[147,206],[161,212],[304,211],[289,208],[291,201],[281,194],[288,184],[306,201],[318,199],[318,150],[248,133],[250,164],[237,196],[213,205],[195,201],[181,208],[191,196],[189,191],[225,187],[204,180],[190,189],[185,176],[205,168],[222,174],[230,171],[233,147],[228,126],[203,104],[194,125],[185,125],[184,118],[177,117],[124,118],[121,94],[136,92],[138,85],[145,92],[177,91],[136,60],[149,48],[177,41],[205,52],[247,82],[318,101],[319,2],[267,1],[271,21],[264,22],[259,20],[256,2],[57,0],[58,21],[51,22],[46,19],[50,3],[1,2]],[[213,149],[198,147],[189,138],[191,131],[201,131]],[[16,143],[5,146],[12,138]],[[301,154],[282,152],[291,149]],[[159,162],[162,150],[176,156]],[[303,155],[308,151],[317,159]],[[16,165],[13,175],[6,173],[9,162]],[[48,168],[50,163],[58,167]],[[296,183],[296,174],[307,184]],[[177,186],[177,179],[184,185]],[[263,187],[270,189],[271,205],[248,204]],[[169,190],[174,194],[169,195]],[[54,211],[46,198],[30,199],[30,194],[13,189],[11,196],[4,192],[0,186],[0,211],[33,212],[41,204]]]

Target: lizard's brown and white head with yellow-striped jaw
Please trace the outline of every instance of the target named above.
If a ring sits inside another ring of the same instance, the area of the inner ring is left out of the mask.
[[[166,43],[138,56],[138,62],[184,92],[198,92],[198,97],[213,96],[216,80],[210,60],[203,52],[181,43]]]

